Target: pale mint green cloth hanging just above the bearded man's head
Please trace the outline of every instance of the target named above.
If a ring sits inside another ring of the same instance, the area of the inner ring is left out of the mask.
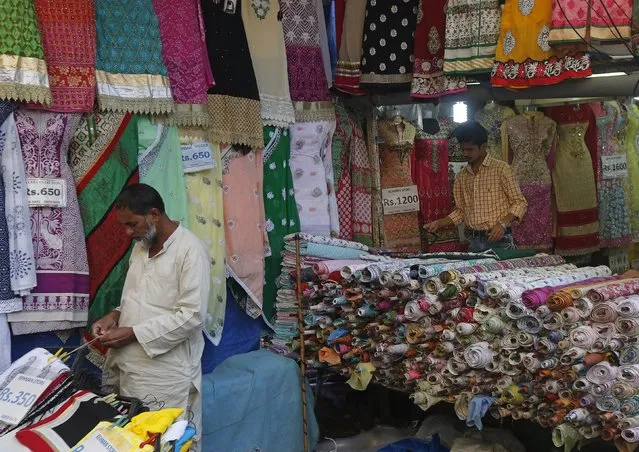
[[[164,200],[169,218],[188,228],[186,184],[177,127],[152,124],[148,117],[140,116],[138,165],[140,182],[155,188]]]

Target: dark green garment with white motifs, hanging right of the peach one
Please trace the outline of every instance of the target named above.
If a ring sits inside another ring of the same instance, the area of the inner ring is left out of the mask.
[[[300,230],[293,176],[289,167],[291,137],[287,129],[264,128],[264,214],[270,252],[265,259],[264,318],[275,315],[278,279],[282,273],[284,237]]]

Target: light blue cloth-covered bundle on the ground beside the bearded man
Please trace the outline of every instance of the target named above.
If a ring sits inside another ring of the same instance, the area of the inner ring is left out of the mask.
[[[307,384],[309,450],[319,428]],[[202,378],[202,450],[304,450],[300,370],[266,350],[233,356]]]

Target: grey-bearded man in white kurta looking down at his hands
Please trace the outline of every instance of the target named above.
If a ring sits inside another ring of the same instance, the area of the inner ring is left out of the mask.
[[[198,450],[202,325],[211,272],[208,251],[163,211],[141,214],[153,231],[146,235],[154,237],[150,240],[156,241],[155,246],[145,245],[137,236],[136,230],[143,226],[138,228],[137,220],[130,219],[139,213],[126,209],[118,215],[139,242],[131,254],[120,306],[93,325],[94,334],[110,347],[105,386],[115,387],[124,396],[163,402],[166,408],[183,408],[184,417],[197,429],[191,450]]]

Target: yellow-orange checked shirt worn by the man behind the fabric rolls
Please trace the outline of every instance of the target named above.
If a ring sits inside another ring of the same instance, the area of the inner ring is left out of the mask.
[[[479,178],[482,190],[475,190]],[[466,166],[455,178],[453,189],[455,210],[449,215],[455,224],[462,221],[475,231],[487,231],[507,214],[522,219],[526,214],[526,198],[521,194],[510,167],[486,156],[478,173]]]

